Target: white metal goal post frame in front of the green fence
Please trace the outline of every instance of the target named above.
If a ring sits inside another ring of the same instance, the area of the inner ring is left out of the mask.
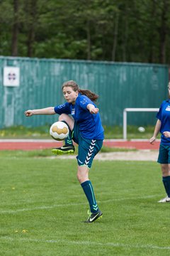
[[[127,112],[158,112],[159,108],[132,107],[123,110],[123,139],[127,139]]]

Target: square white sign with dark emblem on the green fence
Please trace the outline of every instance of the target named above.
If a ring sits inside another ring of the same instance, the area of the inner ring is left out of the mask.
[[[20,85],[20,68],[5,67],[4,68],[4,86]]]

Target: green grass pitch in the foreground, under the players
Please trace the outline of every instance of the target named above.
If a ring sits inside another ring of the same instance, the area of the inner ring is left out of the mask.
[[[159,164],[94,161],[90,178],[103,218],[87,224],[76,160],[37,152],[0,151],[0,255],[169,255]]]

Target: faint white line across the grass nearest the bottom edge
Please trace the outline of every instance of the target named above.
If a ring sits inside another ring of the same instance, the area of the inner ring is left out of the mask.
[[[127,248],[136,248],[136,249],[152,249],[152,250],[170,250],[169,246],[158,246],[158,245],[126,245],[121,243],[114,242],[91,242],[91,241],[70,241],[70,240],[43,240],[43,239],[31,239],[31,238],[10,238],[10,237],[0,237],[0,240],[8,240],[8,241],[23,241],[23,242],[39,242],[39,243],[56,243],[56,244],[64,244],[64,245],[96,245],[96,246],[104,246],[104,247],[127,247]]]

